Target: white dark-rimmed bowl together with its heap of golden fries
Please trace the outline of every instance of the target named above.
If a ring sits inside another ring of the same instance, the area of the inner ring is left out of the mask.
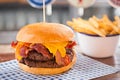
[[[95,58],[113,56],[120,35],[120,18],[111,21],[107,15],[101,19],[93,16],[88,20],[76,18],[67,24],[77,32],[80,50]]]

